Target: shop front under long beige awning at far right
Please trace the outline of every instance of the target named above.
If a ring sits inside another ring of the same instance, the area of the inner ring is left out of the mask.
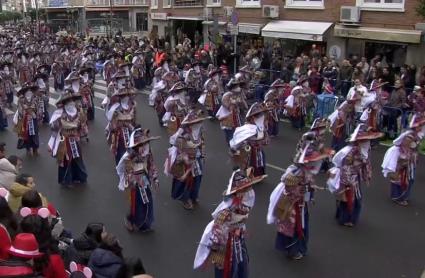
[[[423,56],[425,50],[419,30],[336,25],[334,36],[345,39],[347,56],[365,56],[370,60],[380,55],[382,61],[396,67],[423,63],[423,57],[418,57],[418,54]]]

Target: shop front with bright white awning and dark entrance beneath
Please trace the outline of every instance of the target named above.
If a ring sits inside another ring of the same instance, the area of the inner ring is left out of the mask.
[[[264,26],[261,35],[270,44],[276,44],[278,40],[283,51],[282,56],[308,54],[313,44],[321,55],[326,55],[332,25],[332,22],[279,20]]]

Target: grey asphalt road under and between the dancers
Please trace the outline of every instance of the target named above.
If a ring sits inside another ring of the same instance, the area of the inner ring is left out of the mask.
[[[98,97],[104,94],[98,82]],[[53,95],[53,97],[56,97]],[[96,99],[97,105],[100,99]],[[88,184],[63,189],[57,184],[55,159],[47,152],[50,131],[41,128],[41,155],[25,157],[15,148],[16,135],[0,133],[7,143],[8,154],[24,158],[24,172],[36,177],[37,188],[60,210],[65,226],[77,236],[90,221],[103,222],[109,232],[118,236],[126,256],[140,256],[149,273],[157,278],[213,277],[212,266],[193,270],[197,242],[211,220],[210,213],[221,201],[221,194],[231,174],[231,163],[224,145],[224,135],[217,122],[205,122],[207,160],[201,187],[201,205],[186,211],[171,199],[171,179],[162,174],[168,148],[166,130],[159,127],[156,115],[147,105],[147,97],[138,97],[138,121],[161,139],[151,144],[160,169],[160,192],[154,196],[155,231],[148,234],[129,233],[123,226],[127,211],[126,195],[118,191],[114,161],[105,140],[106,120],[96,109],[90,124],[90,142],[83,143],[83,156],[89,174]],[[51,107],[53,109],[53,107]],[[301,133],[281,123],[280,135],[266,148],[269,175],[255,185],[256,202],[248,220],[247,245],[250,277],[389,277],[417,278],[425,268],[425,159],[420,158],[411,205],[397,206],[389,200],[389,184],[382,177],[380,164],[385,147],[371,155],[374,176],[364,188],[363,211],[355,228],[340,227],[334,219],[335,200],[329,192],[318,192],[311,209],[309,254],[302,261],[288,260],[274,249],[275,227],[266,225],[269,195],[278,183],[282,170],[290,164]],[[421,171],[422,170],[422,171]],[[325,176],[317,177],[324,186]],[[422,198],[421,198],[422,197]]]

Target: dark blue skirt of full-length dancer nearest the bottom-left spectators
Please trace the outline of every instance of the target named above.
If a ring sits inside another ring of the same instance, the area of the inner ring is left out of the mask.
[[[148,198],[146,204],[143,203],[139,187],[131,189],[130,212],[127,215],[128,222],[136,226],[140,231],[149,230],[154,221],[152,192],[148,186],[145,190]]]

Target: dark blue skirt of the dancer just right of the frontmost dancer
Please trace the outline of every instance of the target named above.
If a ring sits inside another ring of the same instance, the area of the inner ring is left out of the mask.
[[[286,252],[289,257],[295,257],[299,254],[307,254],[307,244],[309,238],[309,213],[307,207],[304,209],[304,228],[303,236],[300,238],[297,232],[292,237],[282,233],[277,233],[275,247],[277,250]]]

